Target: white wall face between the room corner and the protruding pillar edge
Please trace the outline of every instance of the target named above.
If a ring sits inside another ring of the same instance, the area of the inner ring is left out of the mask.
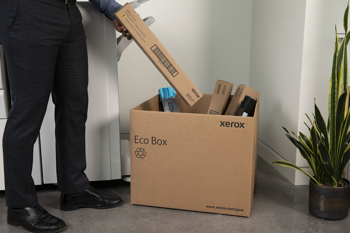
[[[296,148],[281,125],[298,125],[305,5],[306,0],[253,1],[249,85],[260,92],[258,153],[268,162],[275,155],[295,162]],[[294,170],[287,171],[293,179]]]

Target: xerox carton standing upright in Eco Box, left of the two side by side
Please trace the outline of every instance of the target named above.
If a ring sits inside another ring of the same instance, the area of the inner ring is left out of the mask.
[[[233,83],[218,79],[211,97],[207,114],[223,115],[226,104],[229,100],[233,88]]]

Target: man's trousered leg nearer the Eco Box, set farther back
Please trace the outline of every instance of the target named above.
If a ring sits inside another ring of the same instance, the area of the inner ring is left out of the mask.
[[[58,51],[52,101],[55,103],[58,189],[77,193],[91,188],[84,170],[87,118],[87,49],[82,16],[68,5],[71,33]]]

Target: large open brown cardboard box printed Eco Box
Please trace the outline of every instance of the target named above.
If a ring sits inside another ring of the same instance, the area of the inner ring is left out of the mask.
[[[257,172],[254,117],[208,115],[212,95],[181,113],[158,95],[130,110],[131,204],[249,217]]]

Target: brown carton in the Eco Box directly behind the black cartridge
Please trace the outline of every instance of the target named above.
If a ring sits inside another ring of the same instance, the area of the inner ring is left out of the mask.
[[[246,95],[252,97],[254,100],[258,100],[259,94],[260,92],[257,92],[253,88],[241,84],[238,85],[235,94],[232,95],[231,102],[225,112],[225,115],[234,116]]]

